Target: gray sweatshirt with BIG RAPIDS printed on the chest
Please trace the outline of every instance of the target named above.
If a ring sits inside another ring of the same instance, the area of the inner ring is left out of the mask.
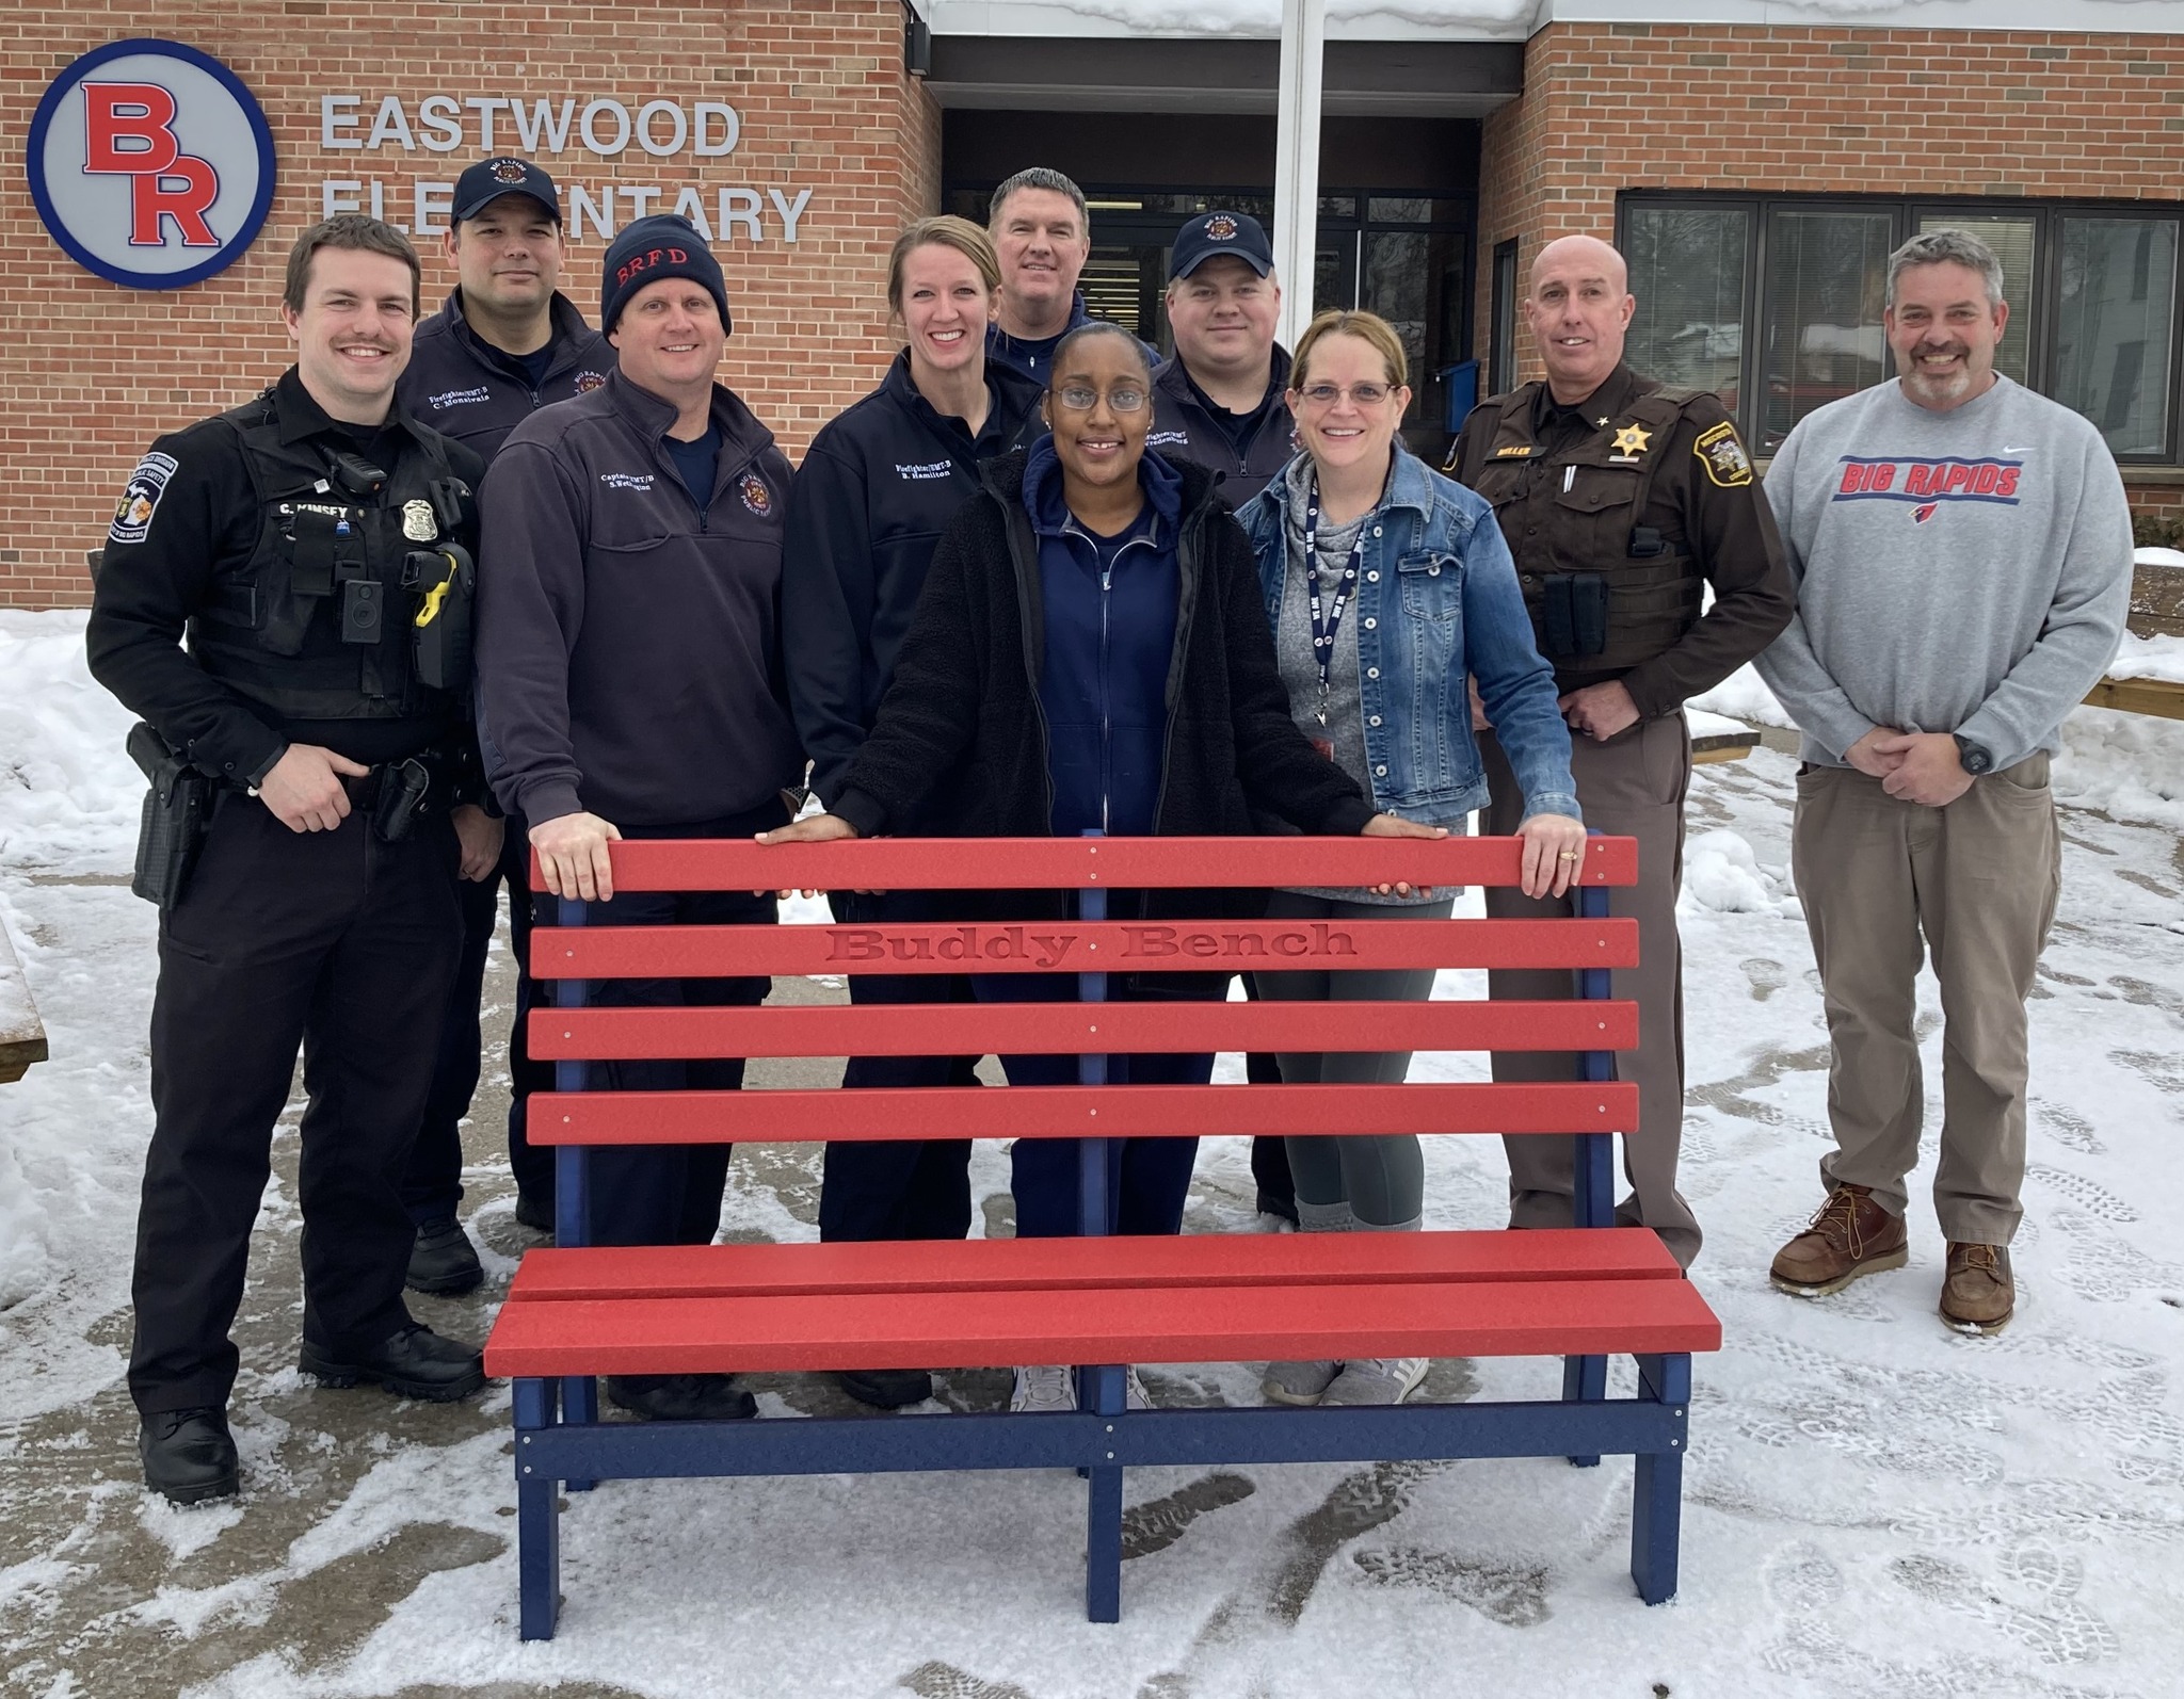
[[[1806,415],[1767,472],[1797,614],[1758,657],[1804,758],[1889,725],[1955,732],[2009,767],[2116,657],[2132,515],[2101,435],[1996,378],[1933,413],[1898,380]]]

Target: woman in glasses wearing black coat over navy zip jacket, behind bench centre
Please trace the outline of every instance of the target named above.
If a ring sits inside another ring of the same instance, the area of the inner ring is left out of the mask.
[[[1289,718],[1249,542],[1212,474],[1144,450],[1151,371],[1092,323],[1055,349],[1051,437],[992,461],[933,557],[895,681],[832,815],[760,834],[795,843],[902,830],[948,836],[1441,836],[1374,815]],[[928,797],[961,773],[946,806]],[[1120,893],[1116,893],[1120,898]],[[1116,898],[1109,898],[1112,902]],[[1160,913],[1160,893],[1144,898]],[[1118,904],[1120,906],[1120,904]],[[1203,913],[1203,908],[1201,908]],[[1118,998],[1216,998],[1223,974],[1147,974]],[[1075,983],[978,981],[985,998],[1072,1000]],[[1075,1081],[1075,1057],[1002,1057],[1011,1085]],[[1206,1083],[1210,1055],[1112,1057],[1107,1077]],[[1114,1140],[1116,1232],[1173,1234],[1192,1140]],[[1018,1140],[1016,1229],[1077,1229],[1077,1142]],[[1142,1389],[1131,1376],[1131,1398]],[[1013,1409],[1075,1409],[1066,1369],[1020,1369]]]

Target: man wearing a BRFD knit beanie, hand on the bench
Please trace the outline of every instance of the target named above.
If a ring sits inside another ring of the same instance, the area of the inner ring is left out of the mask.
[[[804,775],[782,686],[788,461],[714,380],[721,264],[684,218],[625,225],[605,258],[607,382],[520,424],[485,480],[478,725],[500,801],[529,823],[555,895],[594,926],[769,924],[749,891],[614,889],[616,839],[734,839],[788,819]],[[769,981],[607,981],[601,1002],[753,1005]],[[622,1090],[734,1090],[740,1059],[594,1068]],[[592,1155],[601,1245],[705,1245],[725,1144]],[[727,1376],[616,1376],[655,1419],[747,1417]]]

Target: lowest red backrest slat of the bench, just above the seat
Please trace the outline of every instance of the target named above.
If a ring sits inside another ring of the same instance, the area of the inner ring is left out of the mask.
[[[533,1092],[533,1144],[878,1144],[926,1138],[1627,1133],[1638,1088],[935,1085],[926,1090]]]

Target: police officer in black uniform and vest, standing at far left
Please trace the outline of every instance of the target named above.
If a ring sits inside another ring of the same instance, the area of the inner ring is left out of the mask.
[[[301,1369],[430,1400],[485,1385],[474,1345],[402,1304],[395,1179],[461,943],[443,758],[470,736],[467,655],[446,638],[483,476],[395,406],[415,314],[400,231],[308,229],[282,295],[295,367],[153,443],[98,574],[92,675],[216,782],[159,915],[129,1354],[144,1478],[177,1502],[236,1492],[227,1330],[299,1042]]]

